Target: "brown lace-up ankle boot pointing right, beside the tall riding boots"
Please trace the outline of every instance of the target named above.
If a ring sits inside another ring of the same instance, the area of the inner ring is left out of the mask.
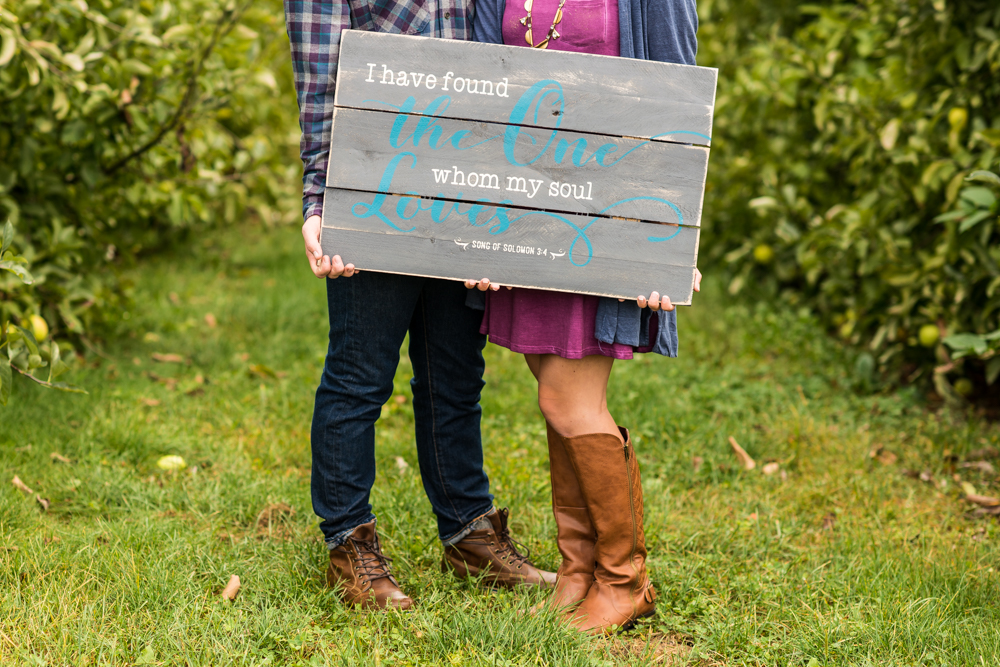
[[[441,571],[457,577],[479,577],[493,586],[541,586],[556,583],[553,572],[539,570],[521,554],[507,528],[507,508],[476,519],[471,533],[444,548]]]

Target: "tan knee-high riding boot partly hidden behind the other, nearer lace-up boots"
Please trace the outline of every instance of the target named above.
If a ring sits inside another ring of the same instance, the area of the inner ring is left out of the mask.
[[[556,572],[556,590],[549,604],[571,609],[580,604],[594,583],[594,546],[597,533],[587,511],[576,470],[566,454],[563,437],[546,422],[549,439],[549,477],[552,513],[556,517],[556,544],[562,564]]]

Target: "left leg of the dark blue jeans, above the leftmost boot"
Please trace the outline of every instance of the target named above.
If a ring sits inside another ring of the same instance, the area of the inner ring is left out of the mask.
[[[330,347],[313,411],[312,502],[328,546],[375,518],[375,421],[425,282],[369,271],[326,281]]]

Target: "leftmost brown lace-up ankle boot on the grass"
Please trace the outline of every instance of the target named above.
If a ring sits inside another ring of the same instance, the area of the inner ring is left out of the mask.
[[[326,583],[331,588],[339,584],[347,604],[363,609],[409,609],[413,600],[399,590],[390,560],[382,555],[375,522],[361,524],[343,544],[330,550]]]

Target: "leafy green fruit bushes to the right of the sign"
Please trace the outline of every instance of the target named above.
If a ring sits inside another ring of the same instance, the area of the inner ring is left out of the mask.
[[[978,377],[917,333],[1000,328],[1000,5],[700,11],[699,62],[721,69],[704,254],[730,291],[814,312],[861,368]]]

